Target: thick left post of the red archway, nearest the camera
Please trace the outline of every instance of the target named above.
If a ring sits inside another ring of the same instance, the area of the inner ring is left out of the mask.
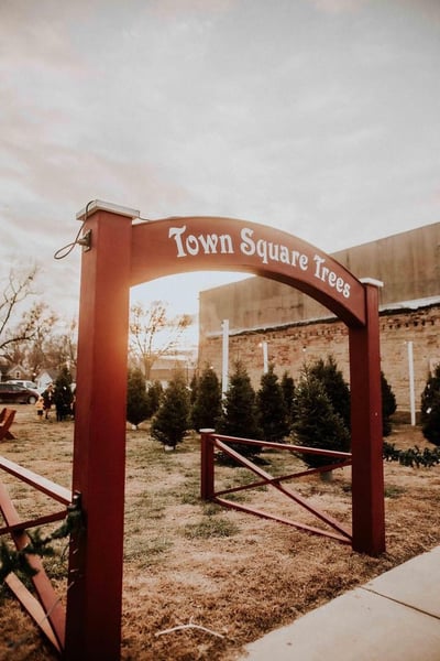
[[[86,214],[78,214],[85,219]],[[127,355],[132,218],[96,202],[84,231],[73,489],[85,531],[72,541],[65,659],[120,658]]]

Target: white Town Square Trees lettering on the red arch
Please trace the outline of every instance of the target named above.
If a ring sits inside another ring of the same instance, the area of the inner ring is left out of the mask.
[[[279,262],[287,264],[300,271],[309,269],[308,254],[274,241],[254,237],[255,230],[250,227],[243,227],[240,232],[240,252],[248,257],[256,256],[263,264]],[[228,234],[218,235],[216,232],[187,235],[186,225],[182,227],[170,227],[168,238],[174,239],[177,249],[177,257],[196,257],[197,254],[233,254],[235,252],[232,237]],[[327,266],[324,257],[315,254],[314,278],[327,283],[334,289],[344,299],[350,297],[350,284],[344,281]]]

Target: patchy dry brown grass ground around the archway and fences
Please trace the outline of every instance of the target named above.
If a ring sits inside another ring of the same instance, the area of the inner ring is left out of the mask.
[[[70,486],[72,422],[38,422],[32,407],[20,407],[13,432],[16,438],[2,442],[0,454]],[[405,424],[395,426],[388,442],[398,448],[429,446],[418,427]],[[237,660],[248,642],[440,543],[440,466],[385,463],[387,551],[373,559],[324,537],[200,501],[197,437],[164,452],[147,429],[128,429],[127,452],[121,650],[127,661]],[[265,453],[264,459],[264,469],[276,475],[301,466],[286,453]],[[219,466],[216,475],[224,488],[249,481],[243,468]],[[20,512],[51,511],[44,496],[0,477]],[[332,481],[308,476],[290,487],[350,525],[350,484],[345,468]],[[319,525],[272,488],[241,491],[235,499]],[[59,555],[48,562],[63,600],[65,570]],[[55,658],[9,589],[0,587],[0,659]]]

